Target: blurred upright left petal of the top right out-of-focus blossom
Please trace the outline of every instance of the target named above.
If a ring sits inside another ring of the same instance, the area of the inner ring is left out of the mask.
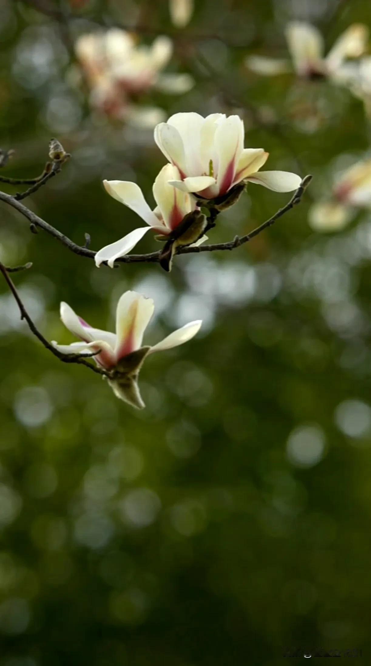
[[[314,25],[292,21],[288,23],[285,33],[288,50],[300,76],[306,75],[312,68],[322,67],[324,40]]]

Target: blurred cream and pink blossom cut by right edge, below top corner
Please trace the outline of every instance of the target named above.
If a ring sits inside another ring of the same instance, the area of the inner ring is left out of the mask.
[[[371,160],[357,162],[336,178],[332,200],[314,204],[308,221],[316,231],[339,231],[350,222],[355,208],[371,208]]]

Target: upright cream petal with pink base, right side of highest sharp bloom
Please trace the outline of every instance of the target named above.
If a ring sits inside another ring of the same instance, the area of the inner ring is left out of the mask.
[[[229,116],[218,123],[214,143],[218,156],[216,185],[218,194],[225,194],[232,185],[244,147],[244,123],[239,116]]]

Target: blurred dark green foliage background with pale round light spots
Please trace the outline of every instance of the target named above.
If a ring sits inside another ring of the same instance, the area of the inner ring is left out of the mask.
[[[332,43],[353,21],[370,24],[371,5],[200,0],[179,31],[165,1],[39,4],[64,19],[1,1],[0,145],[16,151],[7,174],[33,176],[50,137],[62,141],[71,160],[25,203],[76,242],[89,232],[97,249],[137,224],[103,178],[137,180],[150,199],[163,165],[151,131],[90,113],[71,83],[73,41],[97,25],[141,25],[147,43],[171,35],[173,71],[196,85],[151,103],[168,115],[240,113],[267,168],[314,181],[254,241],[178,257],[171,276],[151,264],[97,270],[1,206],[1,260],[33,262],[14,280],[49,339],[71,341],[60,300],[112,327],[128,288],[155,298],[145,342],[192,318],[204,325],[147,362],[147,409],[135,412],[48,354],[1,285],[0,665],[276,666],[284,645],[366,656],[371,219],[360,212],[319,236],[306,216],[332,171],[368,149],[370,127],[344,89],[259,78],[242,63],[282,54],[293,17]],[[322,110],[316,123],[301,121],[305,105]],[[210,240],[254,228],[286,196],[251,184]],[[154,245],[146,236],[138,251]]]

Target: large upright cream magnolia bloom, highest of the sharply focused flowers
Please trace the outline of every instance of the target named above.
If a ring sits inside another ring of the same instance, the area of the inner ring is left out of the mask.
[[[244,148],[244,123],[240,117],[213,113],[176,113],[155,127],[155,141],[165,157],[179,170],[171,184],[182,192],[204,198],[226,194],[239,182],[255,182],[275,192],[291,192],[300,176],[287,171],[259,169],[269,153]]]

